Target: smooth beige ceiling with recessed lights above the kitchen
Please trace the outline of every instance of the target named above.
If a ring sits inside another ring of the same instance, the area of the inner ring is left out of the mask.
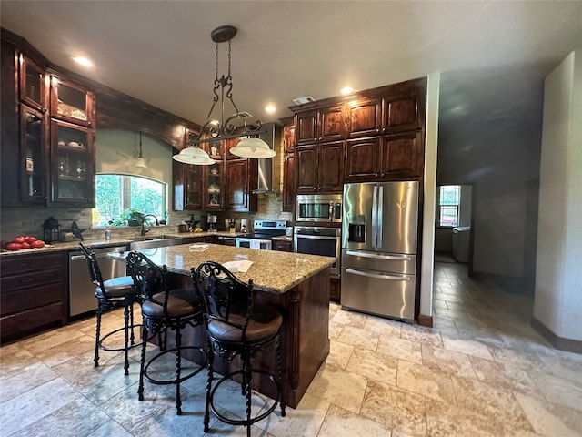
[[[4,28],[55,65],[199,124],[212,104],[210,32],[219,25],[238,29],[236,106],[264,122],[291,116],[296,97],[436,72],[441,131],[475,120],[538,121],[544,76],[582,48],[580,1],[2,0],[0,13]],[[77,66],[78,55],[95,66]]]

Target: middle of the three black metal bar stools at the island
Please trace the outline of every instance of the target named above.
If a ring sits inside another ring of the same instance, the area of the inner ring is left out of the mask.
[[[139,371],[139,400],[144,400],[144,378],[154,384],[176,384],[176,413],[182,414],[182,399],[180,383],[192,378],[206,366],[206,351],[198,346],[182,344],[182,330],[186,325],[196,327],[204,323],[202,306],[198,293],[194,289],[169,289],[169,275],[166,266],[159,267],[146,255],[139,252],[129,252],[127,255],[127,271],[131,274],[135,289],[140,293],[142,305],[142,353]],[[176,331],[174,348],[166,349],[166,341],[161,340],[161,333],[167,330]],[[151,336],[148,338],[148,331]],[[148,340],[158,336],[160,352],[146,363],[146,347]],[[204,361],[186,375],[182,374],[182,352],[186,349],[199,351]],[[159,380],[148,373],[149,367],[166,353],[176,353],[176,375],[169,380]]]

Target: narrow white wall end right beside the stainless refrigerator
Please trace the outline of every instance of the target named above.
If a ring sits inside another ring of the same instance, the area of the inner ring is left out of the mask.
[[[437,202],[438,95],[440,74],[428,75],[426,87],[425,198],[422,230],[420,314],[433,314],[435,204]]]

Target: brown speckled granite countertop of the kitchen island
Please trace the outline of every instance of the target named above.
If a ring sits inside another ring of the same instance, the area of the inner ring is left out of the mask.
[[[335,258],[306,255],[304,253],[279,252],[236,248],[218,244],[205,244],[207,249],[190,249],[188,244],[140,250],[157,265],[166,265],[168,271],[181,275],[190,275],[190,269],[196,268],[204,261],[212,260],[220,264],[226,261],[247,259],[252,261],[246,273],[235,273],[238,279],[246,282],[253,279],[256,290],[271,293],[285,293],[305,279],[326,269],[336,262]],[[109,255],[110,258],[125,260],[125,254]]]

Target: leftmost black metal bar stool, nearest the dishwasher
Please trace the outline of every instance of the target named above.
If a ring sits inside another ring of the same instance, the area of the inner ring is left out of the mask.
[[[129,350],[137,346],[135,343],[134,329],[141,325],[134,324],[134,303],[137,300],[137,291],[134,287],[134,280],[131,276],[103,280],[101,269],[97,263],[95,253],[91,248],[87,248],[83,243],[79,243],[87,265],[91,281],[95,284],[95,298],[97,298],[96,326],[95,326],[95,357],[93,359],[95,367],[99,367],[99,350],[102,351],[124,351],[125,375],[129,374]],[[101,336],[101,316],[105,311],[112,310],[117,306],[124,307],[124,326],[107,332]],[[121,330],[124,331],[123,346],[105,346],[105,341]]]

